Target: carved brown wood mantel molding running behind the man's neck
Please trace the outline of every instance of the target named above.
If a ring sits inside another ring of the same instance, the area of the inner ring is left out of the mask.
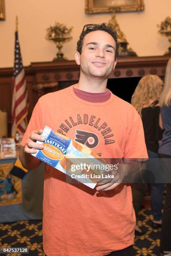
[[[164,76],[171,56],[147,56],[119,58],[110,78],[142,77],[146,74]],[[71,61],[34,62],[25,67],[26,76],[35,77],[35,82],[77,81],[79,66]],[[13,68],[1,68],[0,77],[12,77]]]

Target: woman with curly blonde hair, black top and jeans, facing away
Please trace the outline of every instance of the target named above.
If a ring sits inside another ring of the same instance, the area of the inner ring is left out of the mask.
[[[142,118],[145,144],[148,151],[147,171],[144,183],[133,184],[133,206],[137,218],[135,235],[142,234],[138,226],[138,214],[143,201],[146,183],[151,185],[151,203],[153,212],[153,228],[161,227],[161,210],[163,202],[164,181],[158,160],[158,147],[163,131],[159,127],[159,99],[163,90],[163,82],[156,75],[142,77],[133,93],[131,104]]]

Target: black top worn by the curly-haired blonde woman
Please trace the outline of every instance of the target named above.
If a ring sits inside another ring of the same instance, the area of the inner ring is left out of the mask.
[[[160,107],[157,104],[158,100],[141,110],[146,147],[155,153],[158,153],[158,141],[161,141],[163,134],[159,126]]]

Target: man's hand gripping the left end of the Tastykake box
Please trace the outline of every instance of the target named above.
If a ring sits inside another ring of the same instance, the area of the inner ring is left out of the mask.
[[[36,149],[43,149],[43,145],[36,143],[36,141],[45,141],[45,138],[41,136],[43,130],[36,130],[31,133],[24,147],[24,152],[28,154],[36,154]]]

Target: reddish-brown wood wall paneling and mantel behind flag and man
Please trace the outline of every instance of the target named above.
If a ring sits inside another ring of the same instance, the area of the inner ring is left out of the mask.
[[[147,74],[156,74],[163,77],[169,58],[169,55],[118,58],[116,68],[110,74],[110,78],[142,77]],[[28,120],[31,118],[31,113],[40,95],[73,84],[78,81],[80,73],[80,67],[75,61],[34,62],[30,66],[24,67],[24,69],[29,99]],[[8,111],[9,132],[11,126],[12,76],[13,68],[0,69],[0,108]],[[37,84],[52,82],[59,82],[59,84],[56,87],[43,88],[41,93],[35,90]]]

